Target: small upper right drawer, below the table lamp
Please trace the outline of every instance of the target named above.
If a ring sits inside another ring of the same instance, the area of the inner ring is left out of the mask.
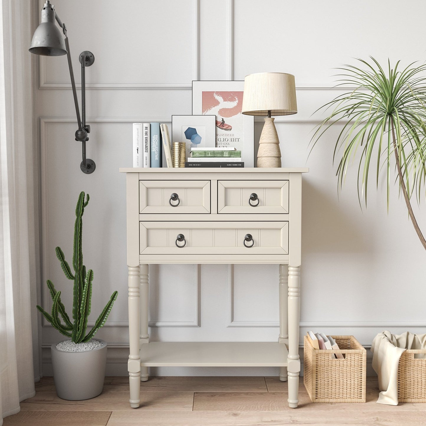
[[[218,181],[218,213],[288,213],[288,180]]]

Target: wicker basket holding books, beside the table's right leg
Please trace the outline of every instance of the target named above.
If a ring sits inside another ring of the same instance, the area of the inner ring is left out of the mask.
[[[366,402],[367,351],[354,336],[332,337],[340,350],[314,349],[305,336],[303,383],[311,401]]]

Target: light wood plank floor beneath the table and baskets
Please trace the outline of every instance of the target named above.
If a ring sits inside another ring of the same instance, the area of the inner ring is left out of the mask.
[[[141,407],[129,406],[127,377],[106,377],[101,395],[86,401],[56,396],[51,377],[4,426],[262,426],[426,425],[426,404],[377,404],[377,379],[367,380],[365,404],[317,403],[302,380],[299,407],[287,405],[287,383],[278,377],[153,377],[141,384]]]

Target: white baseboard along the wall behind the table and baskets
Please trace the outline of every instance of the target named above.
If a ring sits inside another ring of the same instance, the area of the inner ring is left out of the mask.
[[[43,376],[52,376],[50,345],[42,346]],[[127,376],[129,346],[108,344],[107,376]],[[300,375],[303,376],[303,346],[299,347]],[[367,376],[376,376],[367,349]],[[151,367],[150,376],[278,376],[279,367]]]

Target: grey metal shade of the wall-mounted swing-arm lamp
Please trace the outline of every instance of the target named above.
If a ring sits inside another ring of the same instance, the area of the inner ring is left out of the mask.
[[[44,56],[66,55],[63,34],[55,21],[55,10],[46,5],[41,11],[41,23],[32,36],[29,51]]]

